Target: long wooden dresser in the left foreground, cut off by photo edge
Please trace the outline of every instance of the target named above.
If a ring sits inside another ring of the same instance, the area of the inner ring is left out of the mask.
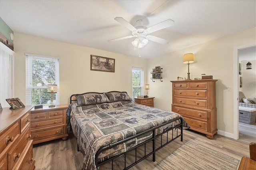
[[[0,111],[0,170],[35,169],[30,135],[30,110],[33,107]]]

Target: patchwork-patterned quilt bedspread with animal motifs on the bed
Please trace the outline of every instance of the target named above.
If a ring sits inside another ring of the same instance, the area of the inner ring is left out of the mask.
[[[77,138],[78,147],[84,154],[83,169],[86,170],[96,170],[95,154],[100,148],[181,117],[178,113],[139,105],[134,101],[77,106],[77,103],[72,103],[68,110],[70,110],[70,123]],[[158,128],[156,134],[179,123],[180,119]],[[183,126],[189,127],[184,119]],[[150,137],[152,132],[108,149],[100,153],[98,161],[102,162],[123,153]]]

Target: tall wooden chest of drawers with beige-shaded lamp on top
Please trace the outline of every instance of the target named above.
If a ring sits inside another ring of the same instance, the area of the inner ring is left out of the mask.
[[[172,82],[172,111],[184,117],[190,129],[206,134],[217,133],[215,79]]]

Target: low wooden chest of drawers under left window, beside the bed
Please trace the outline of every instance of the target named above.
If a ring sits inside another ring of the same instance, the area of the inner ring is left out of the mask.
[[[66,111],[68,105],[44,106],[31,110],[31,138],[33,144],[53,139],[68,139]]]

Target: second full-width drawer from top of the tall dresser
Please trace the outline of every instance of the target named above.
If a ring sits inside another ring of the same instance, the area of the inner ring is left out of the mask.
[[[188,106],[196,106],[207,109],[207,100],[199,100],[199,99],[186,99],[181,97],[174,97],[175,104],[182,104]]]

